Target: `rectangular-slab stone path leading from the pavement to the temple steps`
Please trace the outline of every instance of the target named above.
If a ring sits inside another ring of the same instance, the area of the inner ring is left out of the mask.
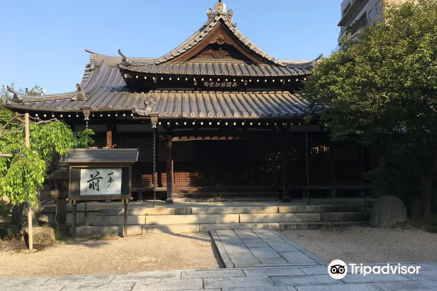
[[[270,229],[211,230],[226,268],[325,265]]]

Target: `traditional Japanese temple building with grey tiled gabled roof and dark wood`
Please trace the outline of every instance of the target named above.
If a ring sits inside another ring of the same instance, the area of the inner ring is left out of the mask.
[[[74,131],[89,127],[93,147],[139,149],[137,200],[152,197],[154,172],[168,203],[363,195],[370,151],[331,142],[321,107],[299,94],[321,56],[276,60],[233,17],[217,2],[198,31],[159,58],[85,49],[90,62],[73,91],[26,96],[9,88],[14,97],[4,106]]]

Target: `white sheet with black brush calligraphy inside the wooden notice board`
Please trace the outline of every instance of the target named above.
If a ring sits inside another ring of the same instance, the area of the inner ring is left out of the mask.
[[[81,195],[120,195],[121,168],[81,169]]]

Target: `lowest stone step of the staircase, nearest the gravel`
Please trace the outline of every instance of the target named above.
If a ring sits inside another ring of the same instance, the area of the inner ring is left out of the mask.
[[[128,235],[147,233],[189,233],[210,230],[270,228],[276,230],[317,229],[322,227],[368,226],[369,222],[280,222],[280,223],[209,223],[209,224],[171,224],[171,225],[130,225]],[[100,235],[121,236],[123,226],[77,226],[76,235],[92,237]]]

